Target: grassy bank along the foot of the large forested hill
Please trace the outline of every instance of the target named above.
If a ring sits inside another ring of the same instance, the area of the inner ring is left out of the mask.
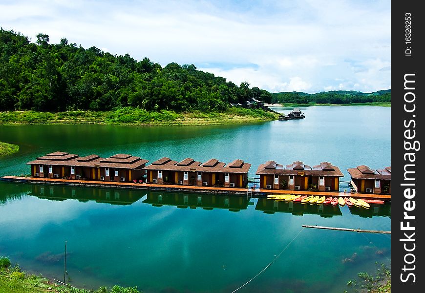
[[[115,111],[0,112],[0,125],[111,124],[111,125],[218,125],[271,121],[277,114],[260,109],[229,108],[225,112],[149,112],[125,107]]]

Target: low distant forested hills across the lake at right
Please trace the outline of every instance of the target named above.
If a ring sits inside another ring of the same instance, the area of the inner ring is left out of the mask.
[[[296,104],[352,104],[370,102],[391,102],[391,90],[379,90],[372,93],[358,91],[328,91],[317,94],[303,92],[281,92],[272,94],[272,103]]]

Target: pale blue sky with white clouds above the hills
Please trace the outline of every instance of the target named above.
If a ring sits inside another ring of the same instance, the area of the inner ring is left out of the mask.
[[[390,12],[390,0],[0,0],[0,25],[271,92],[371,92],[391,84]]]

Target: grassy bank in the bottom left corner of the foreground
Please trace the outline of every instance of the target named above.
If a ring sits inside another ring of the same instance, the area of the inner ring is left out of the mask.
[[[96,291],[59,286],[42,275],[22,272],[19,266],[12,267],[7,257],[0,257],[0,293],[140,293],[137,288],[114,286],[101,287]]]

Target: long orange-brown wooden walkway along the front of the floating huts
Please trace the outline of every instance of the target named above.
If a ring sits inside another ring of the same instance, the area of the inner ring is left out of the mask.
[[[28,182],[28,183],[44,183],[44,184],[61,184],[87,187],[109,187],[109,188],[137,188],[150,190],[166,190],[166,191],[184,191],[184,192],[208,192],[208,193],[225,193],[237,195],[250,195],[254,197],[266,196],[268,194],[303,194],[303,195],[319,195],[319,196],[346,196],[354,198],[381,199],[390,201],[391,195],[370,194],[370,193],[343,193],[343,192],[325,192],[325,191],[304,191],[304,190],[275,190],[263,188],[226,188],[226,187],[207,187],[193,185],[167,185],[153,183],[130,183],[130,182],[112,182],[112,181],[91,181],[91,180],[70,180],[58,178],[40,178],[40,177],[20,177],[20,176],[3,176],[1,180],[12,182]]]

